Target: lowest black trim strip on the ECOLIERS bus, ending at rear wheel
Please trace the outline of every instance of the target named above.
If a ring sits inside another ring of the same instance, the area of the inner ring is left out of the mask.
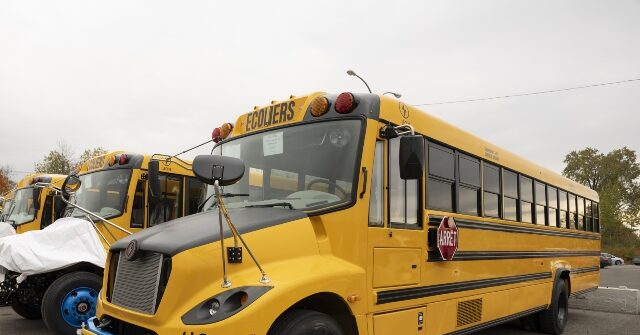
[[[470,280],[458,283],[438,284],[431,286],[421,286],[388,290],[378,292],[376,305],[388,304],[390,302],[418,299],[434,295],[448,294],[461,291],[477,290],[481,288],[509,285],[531,280],[551,278],[551,272],[531,273],[526,275],[499,277],[490,279]]]

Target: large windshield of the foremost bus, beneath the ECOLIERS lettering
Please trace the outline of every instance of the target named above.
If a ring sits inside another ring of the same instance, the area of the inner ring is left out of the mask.
[[[225,204],[316,210],[348,204],[361,136],[360,120],[316,122],[274,129],[221,143],[214,155],[242,159],[245,173],[222,188]],[[216,206],[213,186],[204,208]]]

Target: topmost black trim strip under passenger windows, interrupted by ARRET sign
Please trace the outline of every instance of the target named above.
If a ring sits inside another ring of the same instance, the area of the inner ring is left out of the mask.
[[[432,216],[429,218],[429,226],[437,227],[440,224],[441,220],[442,220],[442,217]],[[467,228],[467,229],[492,230],[492,231],[502,231],[507,233],[548,235],[548,236],[559,236],[559,237],[567,237],[567,238],[581,238],[581,239],[587,239],[587,240],[600,239],[599,235],[587,234],[586,232],[578,233],[577,231],[570,231],[568,229],[565,232],[561,230],[548,230],[548,229],[540,229],[540,228],[533,228],[533,227],[512,226],[508,224],[473,221],[473,220],[458,219],[458,218],[455,218],[455,220],[458,227]]]

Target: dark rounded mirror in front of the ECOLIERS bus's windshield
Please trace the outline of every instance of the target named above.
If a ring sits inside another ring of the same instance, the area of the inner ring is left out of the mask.
[[[233,185],[244,175],[244,162],[234,157],[199,155],[192,167],[196,177],[210,185]]]

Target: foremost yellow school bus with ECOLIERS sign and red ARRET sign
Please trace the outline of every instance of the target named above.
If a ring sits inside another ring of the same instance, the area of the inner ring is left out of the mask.
[[[598,285],[594,191],[398,100],[292,96],[214,137],[209,210],[112,245],[83,334],[560,334]]]

